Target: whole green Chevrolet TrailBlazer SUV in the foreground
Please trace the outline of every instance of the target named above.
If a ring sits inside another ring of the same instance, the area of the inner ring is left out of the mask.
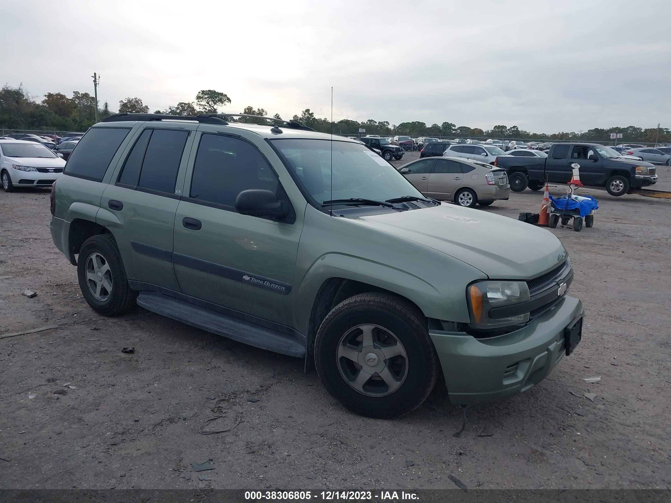
[[[51,233],[94,311],[137,303],[304,358],[372,417],[417,408],[441,370],[453,404],[523,392],[575,349],[582,303],[552,233],[427,199],[359,142],[273,120],[89,129]]]

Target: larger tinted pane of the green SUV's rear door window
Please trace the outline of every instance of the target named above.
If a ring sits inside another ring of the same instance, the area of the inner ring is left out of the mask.
[[[139,187],[170,194],[174,192],[174,183],[177,180],[177,171],[187,137],[189,137],[188,131],[154,129],[147,151],[144,153]]]

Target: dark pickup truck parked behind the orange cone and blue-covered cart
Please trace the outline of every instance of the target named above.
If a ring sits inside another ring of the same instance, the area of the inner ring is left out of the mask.
[[[568,183],[574,163],[580,165],[583,185],[605,187],[611,196],[657,182],[654,164],[622,158],[612,148],[597,144],[554,144],[547,158],[498,156],[494,162],[508,172],[513,192],[522,192],[527,187],[539,190],[546,181]]]

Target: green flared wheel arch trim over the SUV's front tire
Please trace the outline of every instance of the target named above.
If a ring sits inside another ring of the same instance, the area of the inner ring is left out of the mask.
[[[419,276],[373,260],[331,252],[323,254],[311,264],[295,291],[293,323],[301,333],[308,332],[317,292],[329,278],[354,280],[389,290],[415,302],[427,317],[442,318],[446,314],[445,297]]]

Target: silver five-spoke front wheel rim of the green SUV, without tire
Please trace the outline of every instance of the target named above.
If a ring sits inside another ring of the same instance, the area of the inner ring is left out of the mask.
[[[408,372],[403,343],[378,325],[357,325],[338,343],[338,370],[354,390],[386,396],[401,387]]]

